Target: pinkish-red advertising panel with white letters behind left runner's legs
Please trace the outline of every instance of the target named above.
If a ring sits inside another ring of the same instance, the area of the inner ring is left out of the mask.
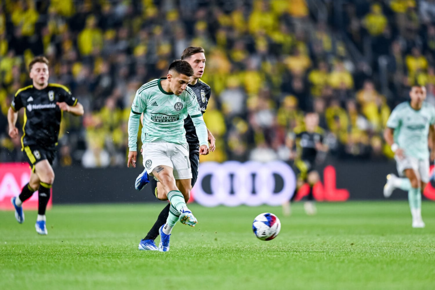
[[[21,188],[29,182],[30,167],[27,163],[0,163],[0,210],[13,210],[11,197],[18,196]],[[53,189],[52,189],[53,193]],[[47,209],[51,208],[51,198]],[[23,203],[25,210],[38,209],[38,192]]]

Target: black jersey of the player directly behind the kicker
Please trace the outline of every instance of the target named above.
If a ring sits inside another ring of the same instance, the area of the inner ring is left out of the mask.
[[[189,87],[195,93],[199,104],[199,109],[201,110],[201,113],[204,114],[207,110],[208,100],[210,99],[211,95],[210,86],[199,79],[194,85],[189,84]],[[195,126],[191,116],[187,116],[187,118],[184,119],[184,129],[186,130],[187,143],[189,143],[189,145],[199,145],[198,136],[196,134]]]

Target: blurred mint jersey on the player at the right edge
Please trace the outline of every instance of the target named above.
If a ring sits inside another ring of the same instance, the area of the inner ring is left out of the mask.
[[[424,102],[420,110],[414,110],[409,102],[397,105],[391,112],[387,127],[394,129],[394,141],[405,151],[405,156],[429,158],[429,126],[435,123],[435,107]]]

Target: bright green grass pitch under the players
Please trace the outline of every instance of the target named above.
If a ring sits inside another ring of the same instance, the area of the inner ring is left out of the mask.
[[[193,204],[197,227],[178,223],[167,253],[137,244],[164,203],[54,205],[48,236],[37,213],[18,224],[0,212],[0,289],[434,289],[435,203],[423,202],[424,229],[412,229],[405,201],[302,203],[281,207]],[[258,240],[251,223],[280,218],[281,233]],[[158,242],[159,238],[157,238]]]

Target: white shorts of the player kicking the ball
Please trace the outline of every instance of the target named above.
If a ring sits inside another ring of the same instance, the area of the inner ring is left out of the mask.
[[[154,168],[166,165],[174,169],[176,180],[192,178],[189,144],[151,142],[142,145],[142,149],[144,167],[151,176]]]

